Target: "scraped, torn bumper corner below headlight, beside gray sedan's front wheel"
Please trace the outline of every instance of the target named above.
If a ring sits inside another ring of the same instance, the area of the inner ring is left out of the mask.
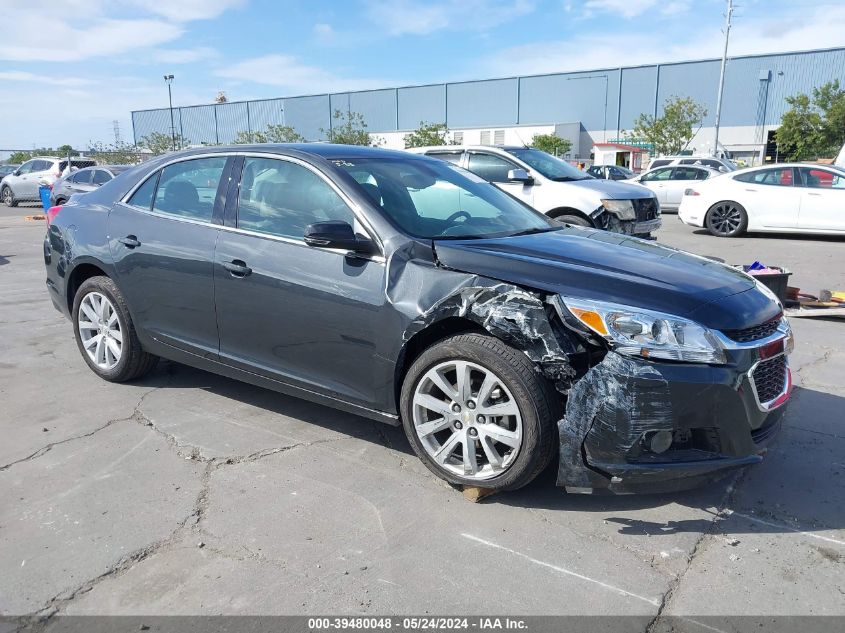
[[[557,485],[597,487],[603,477],[587,466],[588,458],[601,462],[603,455],[625,455],[646,431],[672,428],[668,381],[648,364],[609,352],[569,390],[564,417],[558,422]]]

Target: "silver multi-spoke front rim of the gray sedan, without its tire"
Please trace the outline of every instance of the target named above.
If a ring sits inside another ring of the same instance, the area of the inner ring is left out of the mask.
[[[414,430],[443,469],[483,481],[500,475],[522,445],[516,400],[495,373],[469,361],[429,369],[413,395]]]

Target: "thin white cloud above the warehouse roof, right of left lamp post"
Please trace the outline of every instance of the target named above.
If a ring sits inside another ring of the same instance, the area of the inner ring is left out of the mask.
[[[278,86],[288,94],[313,94],[379,88],[380,79],[351,79],[300,61],[293,55],[265,55],[221,68],[215,73],[236,81]]]

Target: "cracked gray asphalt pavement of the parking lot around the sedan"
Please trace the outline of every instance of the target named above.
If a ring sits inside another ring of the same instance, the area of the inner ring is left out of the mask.
[[[758,467],[636,497],[566,495],[550,469],[472,504],[400,429],[172,363],[98,379],[36,211],[0,209],[0,614],[845,615],[842,321],[793,321],[798,388]],[[845,239],[674,216],[659,237],[845,288]]]

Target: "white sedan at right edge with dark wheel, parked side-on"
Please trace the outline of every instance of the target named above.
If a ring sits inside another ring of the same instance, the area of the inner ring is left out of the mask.
[[[678,211],[718,237],[746,231],[845,233],[845,169],[779,164],[691,183]]]

